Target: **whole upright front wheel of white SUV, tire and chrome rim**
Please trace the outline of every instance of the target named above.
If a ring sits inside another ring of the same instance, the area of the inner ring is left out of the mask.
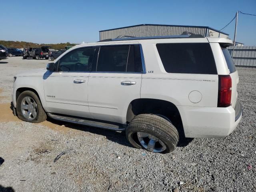
[[[32,91],[24,91],[18,96],[16,108],[18,118],[23,121],[40,123],[47,118],[38,96]]]

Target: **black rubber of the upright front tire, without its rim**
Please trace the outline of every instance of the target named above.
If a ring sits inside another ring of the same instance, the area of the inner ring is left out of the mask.
[[[21,110],[22,100],[23,100],[23,98],[25,98],[27,96],[34,99],[34,101],[37,104],[37,115],[34,120],[28,120],[22,114],[22,110]],[[24,91],[18,96],[18,99],[16,102],[16,109],[17,109],[16,111],[17,111],[18,118],[23,121],[32,122],[32,123],[40,123],[40,122],[45,121],[47,118],[46,112],[44,111],[44,108],[42,107],[42,104],[41,104],[38,96],[32,91]]]

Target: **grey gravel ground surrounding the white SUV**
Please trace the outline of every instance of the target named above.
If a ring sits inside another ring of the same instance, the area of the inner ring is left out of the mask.
[[[256,69],[238,68],[244,116],[232,134],[154,154],[132,148],[124,133],[14,117],[14,74],[48,62],[0,61],[0,191],[256,191]]]

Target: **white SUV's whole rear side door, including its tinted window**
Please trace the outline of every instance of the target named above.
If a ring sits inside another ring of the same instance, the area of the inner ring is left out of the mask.
[[[89,109],[93,118],[126,123],[128,105],[140,98],[140,45],[100,46],[89,76]]]

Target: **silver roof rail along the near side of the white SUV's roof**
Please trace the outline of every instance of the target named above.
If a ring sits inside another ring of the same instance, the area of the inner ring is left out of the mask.
[[[181,35],[169,35],[169,36],[150,36],[150,37],[134,37],[128,35],[120,35],[114,39],[105,39],[100,40],[98,42],[106,42],[106,41],[123,41],[123,40],[143,40],[143,39],[172,39],[172,38],[204,38],[204,36],[200,34],[194,34],[192,32],[184,31]]]

